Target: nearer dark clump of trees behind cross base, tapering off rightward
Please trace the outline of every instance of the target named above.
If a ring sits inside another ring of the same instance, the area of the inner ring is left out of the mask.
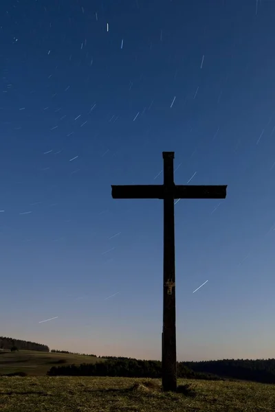
[[[179,378],[220,380],[218,376],[191,371],[183,363],[177,364]],[[47,372],[49,376],[122,376],[128,378],[161,378],[160,361],[140,361],[129,358],[109,358],[95,364],[54,366]]]

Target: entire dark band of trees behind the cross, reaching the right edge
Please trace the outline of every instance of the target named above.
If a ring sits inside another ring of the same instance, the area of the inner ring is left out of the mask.
[[[161,378],[160,361],[140,361],[130,358],[104,357],[94,365],[66,365],[52,367],[50,376],[125,376],[129,378]],[[275,383],[275,359],[223,359],[222,361],[179,362],[179,378],[207,380],[250,380],[254,382]]]

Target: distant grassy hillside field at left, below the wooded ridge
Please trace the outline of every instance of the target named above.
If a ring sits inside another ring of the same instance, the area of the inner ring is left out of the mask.
[[[100,358],[85,355],[60,354],[52,352],[36,352],[19,350],[19,352],[0,351],[0,375],[13,372],[25,372],[30,376],[43,376],[52,366],[61,366],[58,361],[66,361],[63,365],[75,363],[95,363]]]

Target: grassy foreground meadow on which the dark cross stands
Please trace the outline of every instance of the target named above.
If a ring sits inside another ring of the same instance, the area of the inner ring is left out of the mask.
[[[273,412],[275,386],[179,379],[162,393],[157,379],[0,377],[1,412]]]

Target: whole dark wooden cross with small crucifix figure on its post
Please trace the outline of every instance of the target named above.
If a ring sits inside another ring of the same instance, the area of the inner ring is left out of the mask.
[[[162,329],[162,389],[177,390],[176,309],[175,309],[175,199],[220,199],[227,185],[175,185],[174,154],[162,152],[163,185],[112,185],[114,199],[163,199],[164,201],[164,307]]]

